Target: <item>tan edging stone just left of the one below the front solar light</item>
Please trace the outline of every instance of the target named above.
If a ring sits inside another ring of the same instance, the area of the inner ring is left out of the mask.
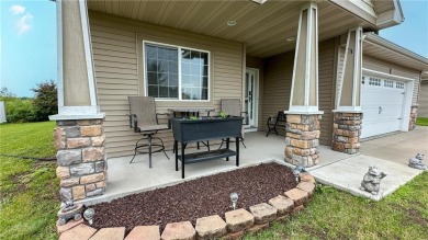
[[[226,222],[218,216],[198,218],[195,230],[198,239],[215,239],[227,233]]]

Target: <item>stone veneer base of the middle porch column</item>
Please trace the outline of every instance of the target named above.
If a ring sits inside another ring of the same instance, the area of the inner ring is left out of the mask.
[[[313,167],[318,163],[320,118],[320,114],[286,115],[286,162],[305,168]]]

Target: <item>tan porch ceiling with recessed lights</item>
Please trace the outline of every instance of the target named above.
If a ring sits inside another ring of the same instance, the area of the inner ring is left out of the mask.
[[[247,55],[269,57],[294,49],[286,42],[297,33],[300,8],[305,1],[105,1],[88,0],[88,8],[105,14],[134,19],[193,33],[246,43]],[[331,4],[318,1],[319,41],[362,25],[361,19]],[[227,21],[236,21],[228,26]]]

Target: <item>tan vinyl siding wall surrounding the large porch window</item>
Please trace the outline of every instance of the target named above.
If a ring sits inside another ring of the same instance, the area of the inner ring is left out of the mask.
[[[210,106],[219,112],[222,98],[241,98],[243,47],[203,35],[151,24],[90,13],[97,91],[101,111],[105,113],[108,157],[129,156],[138,134],[128,126],[128,95],[144,95],[143,41],[199,48],[211,53],[211,100],[207,102],[157,101],[157,112],[169,107]],[[215,114],[215,113],[214,113]],[[166,121],[161,118],[160,122]],[[170,130],[158,133],[168,148]]]

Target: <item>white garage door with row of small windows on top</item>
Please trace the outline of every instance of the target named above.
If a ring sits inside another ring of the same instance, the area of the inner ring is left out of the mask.
[[[362,79],[361,138],[401,129],[405,83],[364,76]]]

